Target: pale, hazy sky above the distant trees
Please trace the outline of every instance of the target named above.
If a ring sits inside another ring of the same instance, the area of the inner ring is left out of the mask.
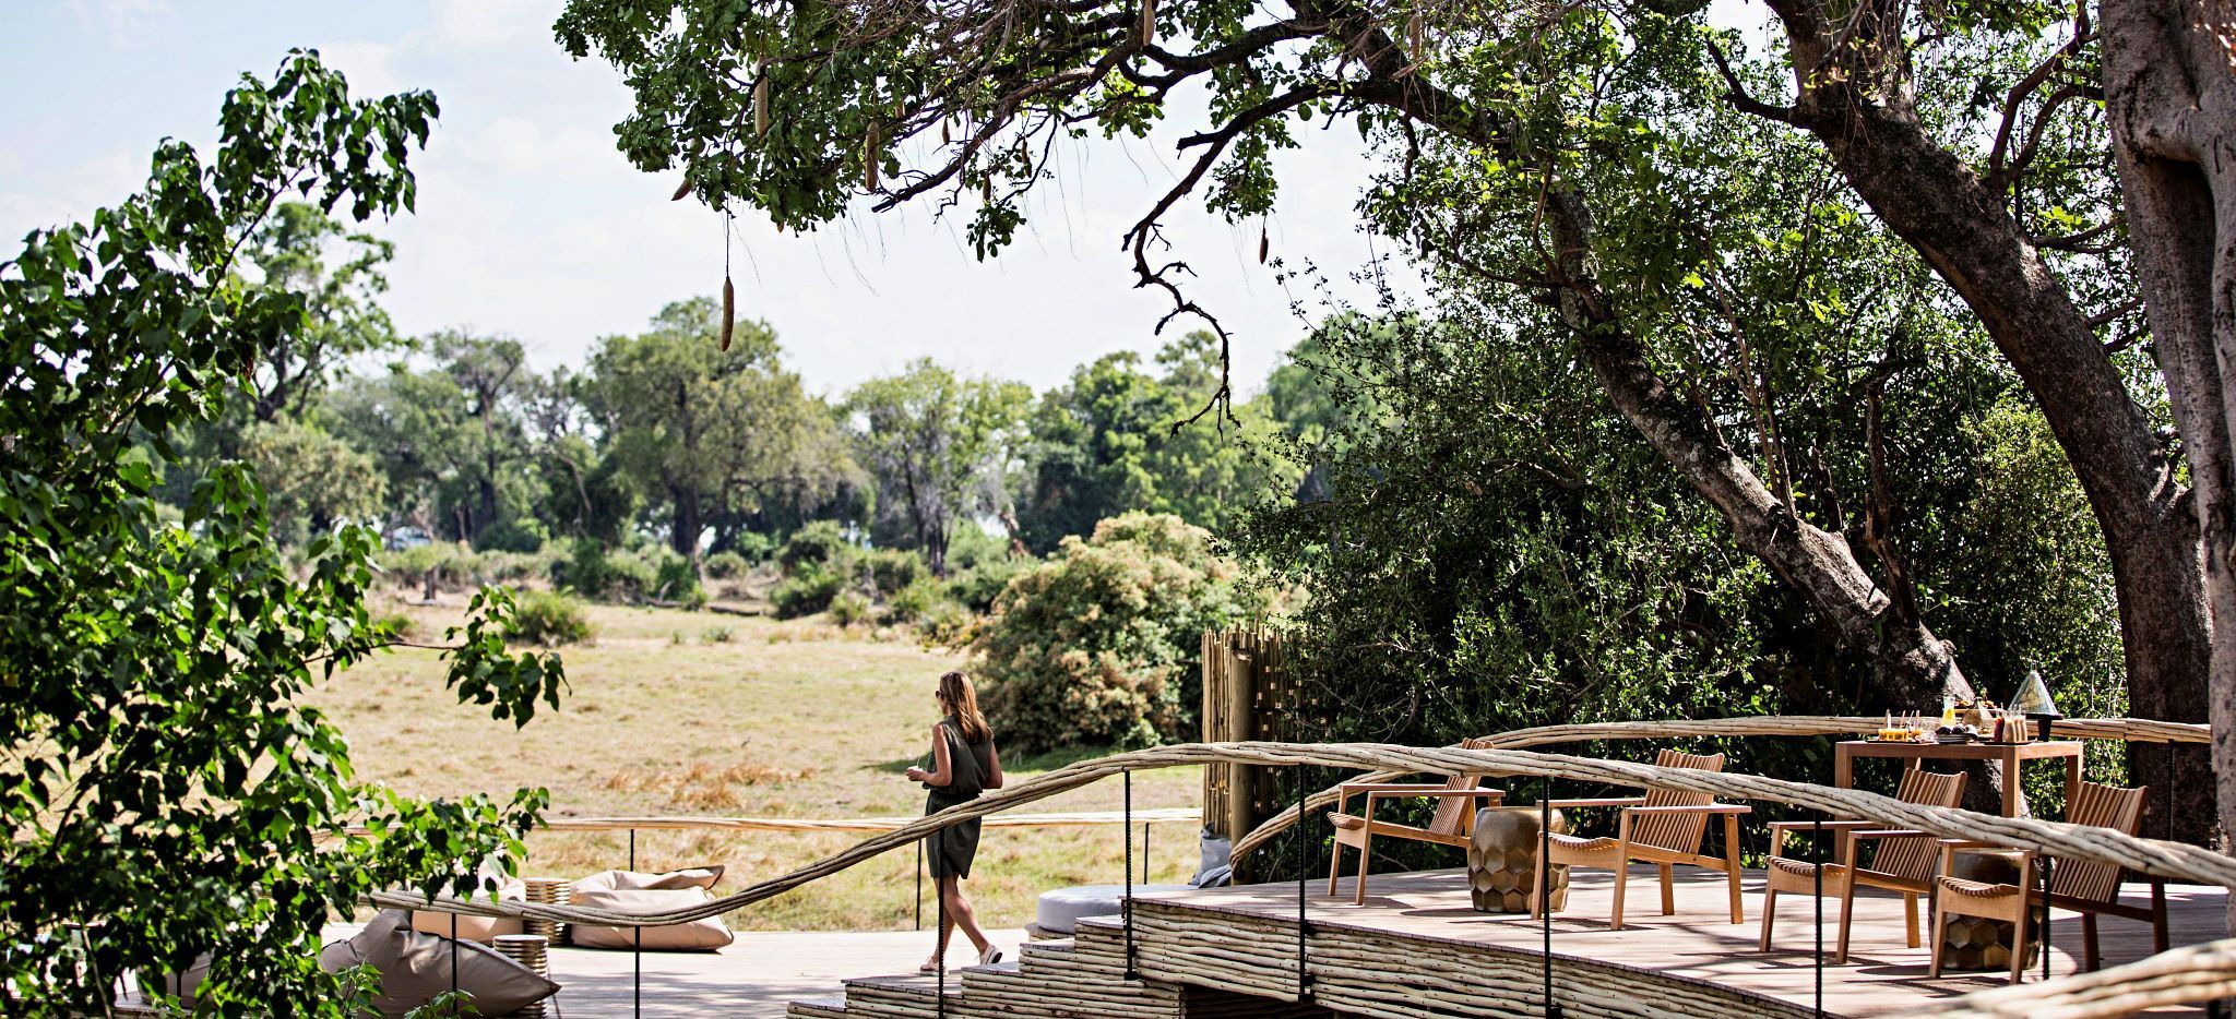
[[[722,284],[722,219],[671,203],[678,172],[646,174],[613,147],[631,94],[604,60],[552,40],[561,0],[0,0],[0,237],[83,219],[139,188],[163,136],[208,152],[241,72],[268,76],[313,47],[356,94],[432,89],[440,123],[418,172],[418,212],[378,223],[396,241],[385,306],[409,335],[472,328],[521,340],[539,369],[581,364],[601,335],[635,333],[662,304]],[[809,389],[841,393],[935,358],[977,375],[1060,384],[1111,351],[1154,353],[1160,293],[1136,291],[1120,235],[1176,179],[1178,123],[1143,143],[1060,154],[1029,232],[977,261],[961,221],[870,215],[814,235],[736,221],[740,317],[767,320]],[[1357,132],[1299,132],[1283,154],[1272,253],[1310,259],[1335,295],[1375,246],[1355,203],[1375,163]],[[1234,335],[1237,384],[1254,389],[1297,342],[1286,288],[1257,264],[1259,223],[1201,203],[1169,217],[1192,297]],[[1409,279],[1398,279],[1409,291]]]

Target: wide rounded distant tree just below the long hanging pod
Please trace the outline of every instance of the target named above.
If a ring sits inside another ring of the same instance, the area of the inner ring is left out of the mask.
[[[709,297],[669,304],[651,331],[599,340],[581,380],[604,456],[691,561],[711,521],[818,501],[854,472],[834,416],[783,369],[776,333],[740,322],[722,351],[716,315]]]

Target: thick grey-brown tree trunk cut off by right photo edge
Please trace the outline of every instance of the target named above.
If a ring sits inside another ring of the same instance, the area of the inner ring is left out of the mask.
[[[2135,277],[2189,458],[2211,606],[2211,762],[2236,831],[2236,80],[2225,2],[2106,0],[2104,109]],[[2185,791],[2189,782],[2185,782]],[[2180,809],[2182,804],[2176,804]],[[2202,811],[2200,811],[2202,813]],[[2232,903],[2236,930],[2236,903]]]

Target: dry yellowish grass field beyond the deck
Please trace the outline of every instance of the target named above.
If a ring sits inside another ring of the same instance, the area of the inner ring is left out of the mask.
[[[440,637],[456,608],[382,606]],[[593,606],[595,644],[563,648],[570,693],[528,728],[443,688],[432,650],[376,657],[335,677],[318,704],[349,733],[360,778],[414,796],[499,793],[541,784],[552,816],[702,813],[872,818],[923,811],[901,769],[930,746],[932,686],[961,659],[908,639],[818,621]],[[1064,760],[1008,760],[1031,775]],[[1194,807],[1198,769],[1134,778],[1134,807]],[[1114,782],[1031,811],[1118,809]],[[785,874],[859,836],[642,831],[639,869],[722,863],[718,892]],[[966,883],[986,927],[1033,918],[1049,887],[1120,880],[1118,827],[988,829]],[[1136,829],[1138,842],[1138,829]],[[1138,851],[1138,847],[1136,847]],[[1158,827],[1152,878],[1185,880],[1194,831]],[[528,874],[622,867],[624,834],[539,834]],[[1140,863],[1136,860],[1136,867]],[[740,930],[901,930],[912,923],[915,854],[894,851],[729,916]],[[1136,872],[1138,874],[1138,872]],[[926,916],[930,916],[926,901]]]

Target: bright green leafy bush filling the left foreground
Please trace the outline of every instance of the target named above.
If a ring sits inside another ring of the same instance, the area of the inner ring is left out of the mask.
[[[367,610],[376,536],[338,527],[288,561],[239,465],[150,498],[170,436],[309,326],[246,286],[237,253],[282,197],[353,219],[407,210],[427,94],[353,101],[291,54],[224,103],[217,156],[159,145],[148,185],[85,223],[34,230],[0,273],[0,988],[11,1015],[105,1012],[110,981],[215,956],[210,1015],[349,1017],[362,974],[320,972],[331,912],[387,887],[476,887],[546,804],[414,800],[358,784],[349,744],[302,704],[391,641]],[[150,463],[134,451],[145,442]],[[510,655],[492,590],[447,635],[461,702],[525,724],[557,704],[555,657]],[[367,825],[353,836],[349,825]],[[98,921],[98,923],[87,923]]]

